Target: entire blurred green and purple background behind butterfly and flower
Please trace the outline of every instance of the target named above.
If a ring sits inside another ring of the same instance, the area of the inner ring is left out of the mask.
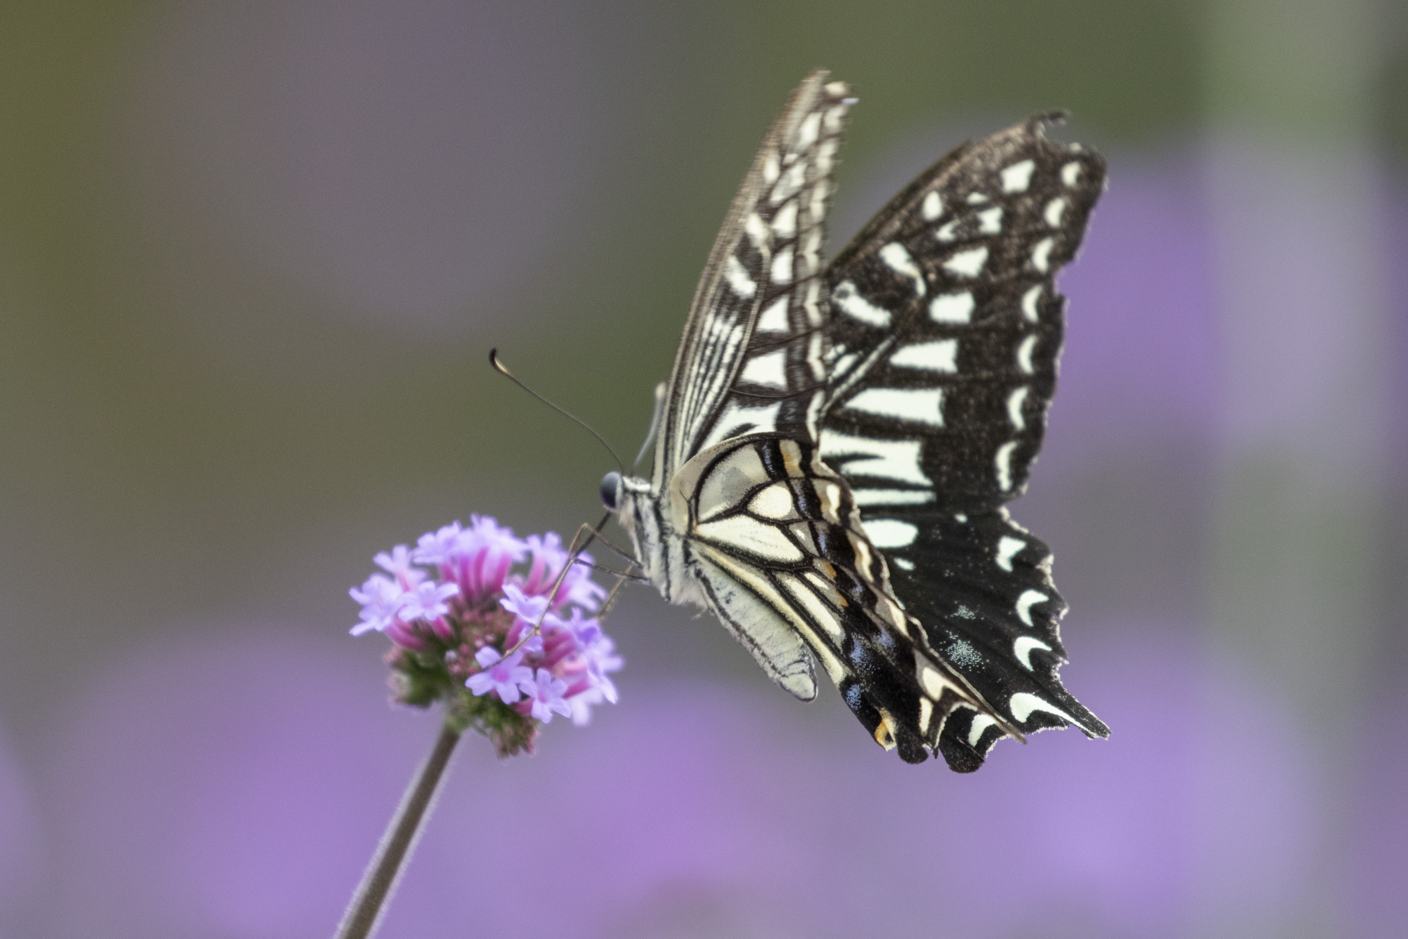
[[[1052,107],[1110,159],[1017,518],[1114,728],[959,777],[648,590],[622,701],[469,739],[383,935],[1408,935],[1408,7],[0,4],[0,936],[329,935],[428,749],[370,556],[596,517],[763,130],[834,248]]]

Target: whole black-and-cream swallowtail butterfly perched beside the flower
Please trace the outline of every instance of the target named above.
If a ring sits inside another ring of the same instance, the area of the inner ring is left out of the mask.
[[[1050,552],[1004,508],[1056,386],[1104,162],[1032,118],[957,148],[821,265],[853,103],[811,75],[729,207],[667,383],[655,470],[603,500],[666,600],[780,686],[814,660],[886,749],[976,770],[1002,736],[1108,728],[1057,677]],[[1055,117],[1055,115],[1053,115]]]

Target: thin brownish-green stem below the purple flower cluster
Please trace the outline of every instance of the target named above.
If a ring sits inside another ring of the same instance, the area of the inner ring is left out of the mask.
[[[421,836],[425,818],[435,804],[435,794],[445,779],[445,769],[449,757],[459,743],[459,731],[451,726],[441,728],[435,748],[425,757],[421,769],[415,773],[401,804],[396,808],[396,815],[382,835],[382,843],[376,846],[376,853],[362,874],[362,883],[352,894],[352,902],[342,914],[338,932],[334,939],[370,939],[382,925],[387,901],[396,891],[396,884],[401,877],[406,862],[415,850],[415,842]]]

